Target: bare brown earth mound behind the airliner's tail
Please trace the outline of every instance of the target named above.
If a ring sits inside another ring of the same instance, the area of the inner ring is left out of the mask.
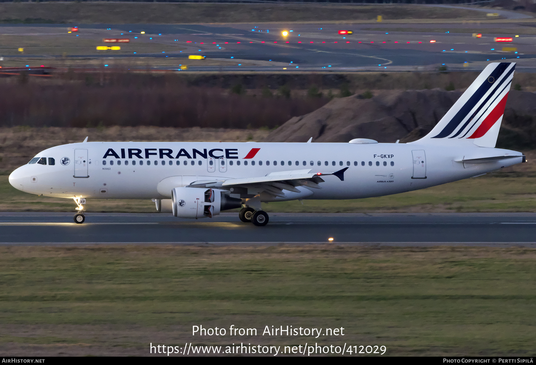
[[[410,142],[428,133],[458,100],[460,91],[382,90],[371,98],[334,98],[311,113],[294,117],[266,142]],[[536,94],[511,90],[497,147],[536,148]]]

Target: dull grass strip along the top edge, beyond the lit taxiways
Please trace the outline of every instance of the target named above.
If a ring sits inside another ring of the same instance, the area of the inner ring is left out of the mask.
[[[3,3],[0,21],[83,24],[174,24],[384,19],[486,19],[486,13],[419,5]]]

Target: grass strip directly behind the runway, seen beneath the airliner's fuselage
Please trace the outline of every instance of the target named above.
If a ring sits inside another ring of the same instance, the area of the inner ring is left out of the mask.
[[[156,212],[151,200],[92,200],[88,212]],[[478,177],[414,192],[354,200],[264,203],[267,212],[536,212],[534,177]],[[70,199],[20,192],[0,176],[0,211],[75,211]]]

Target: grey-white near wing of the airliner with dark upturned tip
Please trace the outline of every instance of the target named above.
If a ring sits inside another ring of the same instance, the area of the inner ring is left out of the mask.
[[[318,184],[324,183],[322,176],[334,175],[341,181],[344,181],[344,172],[348,168],[336,172],[322,173],[311,172],[312,169],[305,170],[291,170],[291,171],[278,171],[267,174],[266,176],[240,178],[240,179],[226,179],[219,181],[194,181],[188,187],[215,187],[222,189],[237,188],[247,190],[247,193],[255,192],[260,194],[266,192],[274,196],[285,197],[283,190],[288,190],[295,193],[300,193],[300,190],[296,187],[306,186],[314,189],[321,189]],[[235,189],[233,189],[235,190]]]

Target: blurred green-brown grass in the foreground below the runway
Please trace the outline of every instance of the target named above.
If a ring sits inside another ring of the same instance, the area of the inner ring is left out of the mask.
[[[183,346],[384,345],[385,355],[524,355],[525,248],[2,247],[0,352],[146,355]],[[258,336],[192,337],[192,325]],[[265,325],[345,336],[268,337]]]

